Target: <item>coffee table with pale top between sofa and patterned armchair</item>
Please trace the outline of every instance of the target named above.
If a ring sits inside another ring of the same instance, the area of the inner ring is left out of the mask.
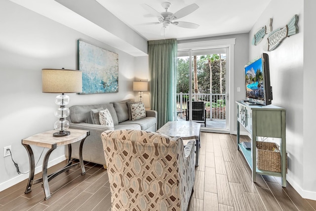
[[[196,139],[196,166],[198,166],[199,129],[201,124],[189,121],[171,121],[160,127],[157,132],[170,137],[180,136],[183,140]]]

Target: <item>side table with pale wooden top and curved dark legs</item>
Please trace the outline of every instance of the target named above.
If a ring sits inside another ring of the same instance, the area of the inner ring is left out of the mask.
[[[85,174],[85,169],[83,165],[82,160],[82,146],[85,138],[90,135],[90,131],[88,130],[81,130],[81,129],[67,129],[70,131],[70,135],[63,136],[63,137],[54,137],[53,133],[56,132],[56,130],[49,130],[46,132],[38,133],[35,135],[32,135],[28,138],[22,139],[22,145],[26,148],[28,154],[29,154],[29,160],[30,160],[30,176],[29,181],[25,190],[25,193],[30,193],[32,184],[37,184],[42,182],[42,187],[44,189],[45,194],[45,200],[49,199],[51,197],[48,182],[59,175],[60,173],[69,170],[71,167],[74,167],[76,165],[80,165],[82,174]],[[75,143],[77,141],[80,141],[80,147],[79,147],[79,162],[74,162],[71,160],[71,144]],[[62,169],[59,169],[49,175],[47,175],[47,164],[49,155],[51,152],[56,149],[58,146],[68,145],[68,162],[65,167]],[[44,160],[43,160],[43,166],[42,166],[42,178],[34,180],[34,172],[35,172],[35,162],[34,162],[34,154],[33,150],[30,145],[36,145],[39,147],[45,147],[49,150],[46,152]]]

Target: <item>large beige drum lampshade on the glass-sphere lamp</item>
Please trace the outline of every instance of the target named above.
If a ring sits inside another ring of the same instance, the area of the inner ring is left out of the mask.
[[[66,69],[42,69],[42,92],[79,93],[82,92],[82,72]]]

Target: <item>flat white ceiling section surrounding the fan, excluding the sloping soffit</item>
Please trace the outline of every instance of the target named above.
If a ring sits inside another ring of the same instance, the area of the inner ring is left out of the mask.
[[[198,38],[249,32],[271,0],[96,0],[118,19],[147,40],[169,38]],[[160,34],[162,23],[158,18],[149,17],[149,12],[141,4],[146,3],[158,12],[164,12],[162,2],[171,3],[168,12],[196,3],[199,8],[193,13],[178,19],[200,25],[197,29],[170,26],[163,37]]]

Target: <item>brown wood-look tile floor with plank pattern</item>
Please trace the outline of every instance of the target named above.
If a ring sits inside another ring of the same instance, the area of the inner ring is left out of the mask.
[[[242,137],[249,141],[248,137]],[[201,133],[199,166],[189,211],[315,211],[316,201],[303,199],[290,184],[281,187],[279,177],[257,175],[237,151],[236,136]],[[53,172],[60,163],[49,169]],[[86,163],[86,174],[73,169],[49,182],[52,197],[44,201],[39,184],[24,194],[24,180],[0,192],[0,211],[110,211],[108,174],[103,166]],[[40,174],[36,175],[40,177]]]

